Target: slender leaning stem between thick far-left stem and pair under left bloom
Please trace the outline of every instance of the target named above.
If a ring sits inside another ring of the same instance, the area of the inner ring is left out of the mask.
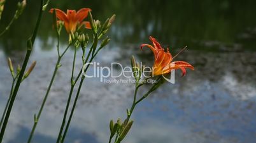
[[[39,109],[38,115],[36,116],[36,120],[34,121],[34,125],[33,125],[33,127],[32,127],[31,133],[30,133],[30,135],[29,135],[29,139],[27,140],[28,143],[31,142],[32,137],[33,137],[33,135],[34,135],[34,131],[36,130],[36,125],[38,125],[38,121],[39,121],[39,118],[40,118],[41,113],[42,113],[42,111],[43,111],[43,107],[45,106],[45,103],[46,103],[48,94],[49,94],[49,92],[50,92],[50,89],[52,88],[52,84],[53,84],[53,81],[54,81],[54,79],[55,79],[55,75],[56,75],[56,73],[57,73],[57,70],[59,69],[60,59],[61,59],[61,58],[59,57],[58,60],[57,60],[56,65],[55,65],[55,69],[54,69],[54,71],[53,71],[52,79],[50,80],[50,84],[48,85],[48,89],[47,89],[46,94],[45,94],[45,97],[44,97],[44,99],[43,99],[43,103],[41,104],[41,107],[40,107],[40,109]]]

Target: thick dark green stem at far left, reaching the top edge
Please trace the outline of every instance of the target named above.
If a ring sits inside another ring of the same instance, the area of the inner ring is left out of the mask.
[[[43,2],[44,1],[41,0],[41,6],[40,6],[40,9],[39,9],[38,20],[36,22],[36,27],[34,28],[34,32],[32,34],[32,38],[31,38],[31,44],[32,44],[31,46],[34,45],[34,40],[36,39],[36,35],[38,33],[38,28],[39,28],[39,25],[40,25],[40,22],[41,22],[42,14],[43,14],[43,11],[42,11]],[[31,51],[32,51],[32,47],[27,48],[27,53],[25,55],[24,63],[22,64],[22,69],[20,70],[20,75],[18,76],[17,83],[16,83],[15,88],[13,90],[13,94],[12,94],[11,99],[10,99],[10,104],[9,104],[7,112],[6,112],[6,116],[4,117],[3,127],[1,128],[1,132],[0,132],[0,142],[2,142],[2,140],[3,140],[6,125],[8,123],[8,120],[9,120],[9,117],[10,117],[10,114],[11,114],[11,109],[13,107],[13,103],[14,103],[15,98],[17,96],[18,89],[20,87],[20,83],[22,82],[22,78],[23,78],[23,75],[24,75],[24,72],[25,72],[25,68],[27,67],[27,63],[29,61]]]

